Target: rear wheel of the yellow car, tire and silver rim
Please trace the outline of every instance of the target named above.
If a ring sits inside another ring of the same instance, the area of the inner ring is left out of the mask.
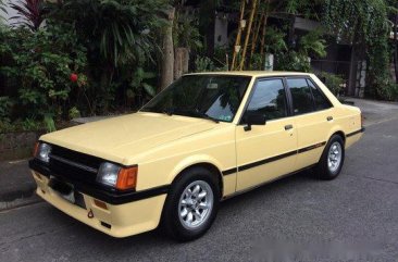
[[[324,180],[336,178],[343,169],[345,159],[344,140],[340,136],[334,135],[327,142],[316,166],[316,175]]]

